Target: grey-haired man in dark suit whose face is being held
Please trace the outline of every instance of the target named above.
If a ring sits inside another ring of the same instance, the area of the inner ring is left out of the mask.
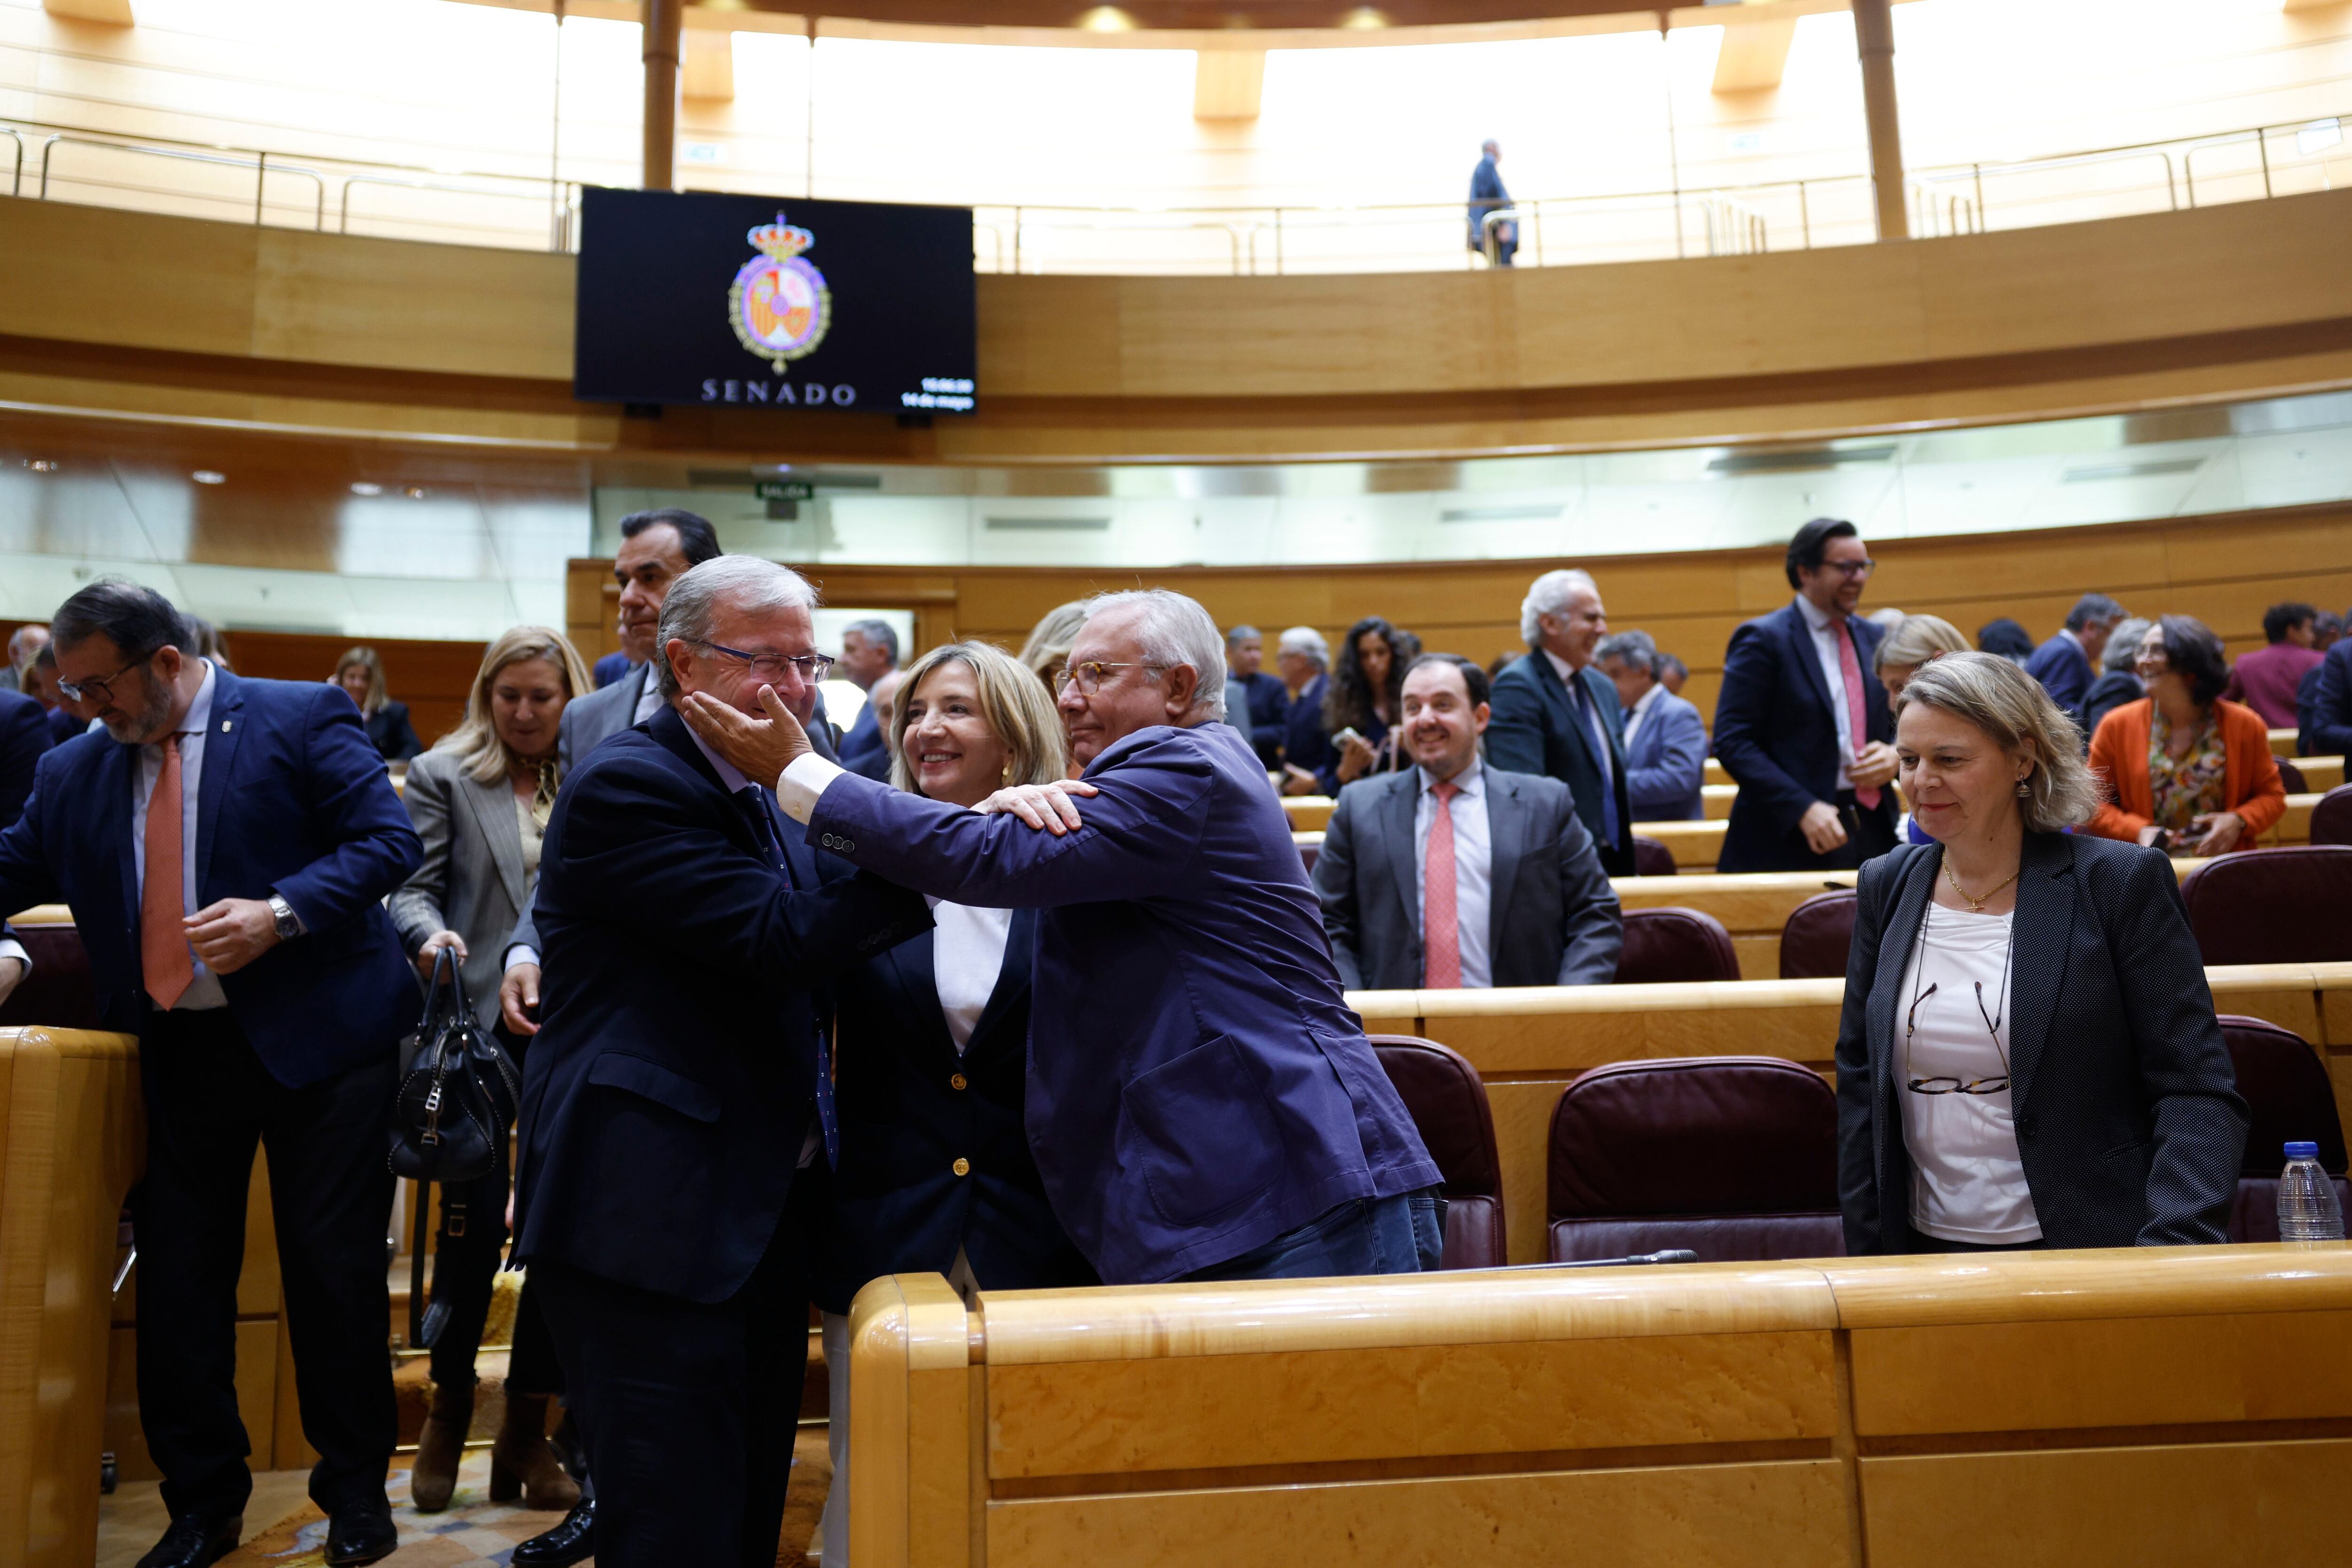
[[[807,1371],[795,1171],[840,1147],[826,987],[931,924],[915,893],[811,856],[668,705],[774,686],[814,715],[814,602],[748,555],[680,576],[666,705],[590,752],[548,820],[515,1255],[586,1434],[595,1559],[616,1568],[776,1556]]]

